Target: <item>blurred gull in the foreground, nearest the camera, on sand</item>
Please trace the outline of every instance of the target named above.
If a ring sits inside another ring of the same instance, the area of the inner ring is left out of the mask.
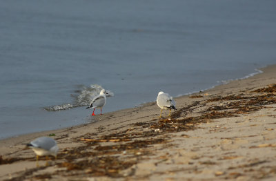
[[[48,155],[53,155],[57,159],[57,152],[59,151],[59,147],[57,146],[57,142],[50,137],[38,137],[37,139],[28,143],[27,146],[37,154],[37,166],[39,166],[39,156],[46,155],[48,160]],[[46,165],[48,165],[47,161]]]

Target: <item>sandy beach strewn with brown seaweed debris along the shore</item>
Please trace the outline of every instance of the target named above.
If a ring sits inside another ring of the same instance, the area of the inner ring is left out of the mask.
[[[0,140],[0,180],[276,180],[276,66],[248,79],[97,115],[94,123]],[[57,160],[26,144],[57,140]]]

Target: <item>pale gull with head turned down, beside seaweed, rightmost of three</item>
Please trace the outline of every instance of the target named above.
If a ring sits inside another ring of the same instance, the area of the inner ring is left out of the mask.
[[[175,108],[175,101],[172,99],[172,97],[169,94],[164,93],[162,91],[158,93],[156,102],[159,108],[161,108],[161,113],[159,117],[161,117],[163,109],[170,109],[170,111],[172,108],[174,110],[177,109]],[[168,116],[170,116],[170,113]]]

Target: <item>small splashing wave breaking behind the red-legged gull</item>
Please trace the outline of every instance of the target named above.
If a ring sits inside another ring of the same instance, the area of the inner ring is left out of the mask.
[[[97,84],[92,84],[88,87],[79,86],[79,89],[75,91],[75,94],[71,95],[74,98],[72,103],[48,106],[45,109],[47,111],[62,111],[70,108],[87,106],[95,96],[99,95],[101,89],[103,88]],[[114,96],[114,93],[112,93],[110,90],[106,90],[106,93],[106,97]]]

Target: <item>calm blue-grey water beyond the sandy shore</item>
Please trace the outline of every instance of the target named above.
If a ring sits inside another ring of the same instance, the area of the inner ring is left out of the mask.
[[[91,122],[83,106],[97,94],[91,86],[114,93],[106,113],[154,101],[159,90],[183,95],[275,64],[275,7],[275,0],[1,1],[0,138]]]

